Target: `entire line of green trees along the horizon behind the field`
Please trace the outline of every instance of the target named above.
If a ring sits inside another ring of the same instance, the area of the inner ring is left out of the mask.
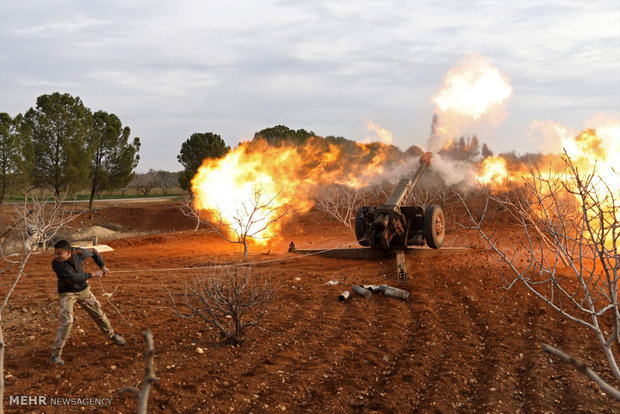
[[[120,190],[124,194],[127,189],[135,188],[138,194],[147,196],[153,188],[160,187],[166,195],[169,188],[177,185],[189,191],[191,179],[205,159],[220,158],[230,151],[220,135],[197,132],[181,145],[177,160],[183,166],[182,171],[150,170],[136,174],[141,144],[140,138],[130,135],[131,129],[118,116],[102,110],[93,112],[79,97],[68,93],[41,95],[35,107],[14,118],[0,113],[0,204],[13,192],[25,194],[34,189],[51,190],[56,199],[65,192],[75,194],[87,189],[90,207],[104,191]],[[301,146],[311,139],[326,149],[336,145],[343,154],[361,156],[359,146],[352,140],[318,137],[312,131],[284,125],[258,131],[253,141]],[[417,146],[404,152],[389,146],[386,152],[381,146],[365,144],[365,156],[372,158],[381,150],[389,162],[423,152]],[[442,151],[443,155],[456,159],[491,154],[486,144],[480,149],[475,136],[461,137]]]

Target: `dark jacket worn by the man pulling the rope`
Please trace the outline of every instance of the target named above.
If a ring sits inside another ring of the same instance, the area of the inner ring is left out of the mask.
[[[52,269],[58,276],[58,293],[81,292],[86,289],[91,274],[84,272],[84,260],[92,257],[97,266],[103,267],[103,259],[95,249],[71,249],[71,258],[64,262],[52,260]]]

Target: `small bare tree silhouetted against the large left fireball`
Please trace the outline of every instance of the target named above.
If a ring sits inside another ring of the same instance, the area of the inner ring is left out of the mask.
[[[279,195],[271,196],[263,187],[255,186],[249,197],[234,211],[209,210],[210,220],[205,223],[227,242],[243,245],[243,260],[246,260],[248,241],[265,237],[263,232],[289,213],[288,205],[277,202]]]

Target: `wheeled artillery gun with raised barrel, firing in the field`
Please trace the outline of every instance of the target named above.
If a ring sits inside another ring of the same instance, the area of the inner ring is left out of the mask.
[[[400,180],[386,203],[379,207],[360,207],[355,216],[355,237],[362,246],[395,251],[399,277],[407,277],[404,250],[409,246],[443,245],[445,218],[438,205],[403,206],[407,194],[417,185],[431,163],[432,154],[420,157],[420,167],[411,178]]]

